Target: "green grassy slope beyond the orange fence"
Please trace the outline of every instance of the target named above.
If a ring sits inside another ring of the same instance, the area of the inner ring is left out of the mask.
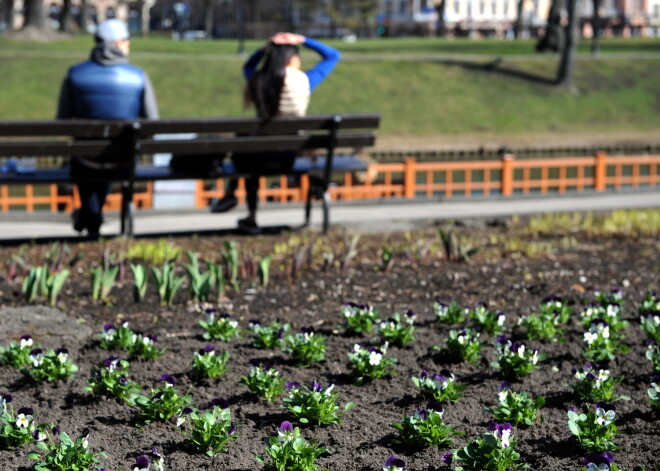
[[[0,119],[54,116],[60,81],[84,60],[89,37],[50,43],[0,37]],[[260,43],[248,41],[248,51]],[[558,57],[531,41],[439,39],[333,43],[344,53],[315,92],[309,113],[380,112],[383,134],[522,134],[653,131],[660,125],[660,40],[604,40],[581,54],[577,95],[557,90]],[[250,115],[242,105],[243,57],[236,41],[136,39],[163,117]],[[589,47],[588,41],[581,45]],[[304,56],[305,64],[312,56]]]

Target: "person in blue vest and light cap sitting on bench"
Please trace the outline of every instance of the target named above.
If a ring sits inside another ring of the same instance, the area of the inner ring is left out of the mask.
[[[128,63],[130,38],[126,25],[116,19],[99,24],[96,45],[86,62],[72,66],[60,89],[57,119],[158,118],[158,105],[147,73]],[[121,157],[121,156],[120,156]],[[126,156],[126,164],[130,165]],[[118,160],[86,157],[71,160],[71,177],[77,182],[80,209],[73,214],[73,228],[98,237],[103,223],[103,205],[113,174],[124,169]],[[108,178],[101,182],[85,179]]]

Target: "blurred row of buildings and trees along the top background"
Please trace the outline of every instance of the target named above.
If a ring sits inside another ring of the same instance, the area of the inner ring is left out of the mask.
[[[23,2],[0,0],[0,29],[14,18],[22,24]],[[48,23],[59,26],[63,0],[47,2]],[[171,32],[176,37],[208,36],[266,38],[291,30],[317,37],[432,36],[440,23],[450,36],[511,37],[522,1],[521,34],[535,36],[545,27],[551,0],[81,0],[72,1],[72,29],[79,30],[83,15],[88,29],[106,18],[121,18],[133,33]],[[13,8],[11,6],[13,5]],[[10,12],[14,14],[11,15]],[[583,33],[589,35],[593,0],[580,0]],[[601,0],[599,14],[605,35],[658,36],[660,0]],[[564,17],[566,12],[563,12]]]

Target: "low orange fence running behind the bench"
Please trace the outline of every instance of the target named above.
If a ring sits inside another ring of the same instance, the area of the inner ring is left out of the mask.
[[[275,185],[274,185],[275,183]],[[511,154],[500,160],[466,162],[417,162],[408,158],[400,163],[370,164],[366,172],[345,173],[341,181],[330,188],[335,200],[383,198],[450,198],[453,196],[511,196],[514,194],[547,194],[550,192],[619,189],[623,187],[654,187],[660,183],[660,155],[608,157],[598,152],[593,157],[516,160]],[[291,183],[286,176],[261,178],[259,198],[262,202],[286,203],[304,201],[309,178],[303,175]],[[12,192],[8,185],[0,186],[0,209],[12,208],[32,212],[36,207],[51,211],[71,211],[79,205],[77,191],[60,194],[57,185],[18,185]],[[209,200],[224,193],[223,180],[198,180],[195,206],[204,208]],[[16,195],[16,193],[20,193]],[[37,194],[38,193],[38,194]],[[239,201],[245,198],[245,185],[239,180]],[[153,207],[153,183],[136,192],[138,208]],[[118,210],[121,195],[113,193],[105,209]]]

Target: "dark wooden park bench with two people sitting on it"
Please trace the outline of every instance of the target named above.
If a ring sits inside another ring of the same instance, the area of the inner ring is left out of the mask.
[[[143,156],[170,153],[190,159],[223,157],[232,153],[296,151],[289,175],[309,175],[305,225],[309,224],[312,199],[323,205],[323,230],[330,220],[328,186],[336,171],[363,171],[366,164],[355,155],[339,155],[341,148],[372,146],[380,122],[378,114],[340,114],[258,118],[200,118],[159,120],[62,120],[0,121],[0,185],[75,183],[66,166],[14,168],[13,159],[73,156],[121,162],[123,170],[113,178],[121,183],[121,233],[133,234],[132,199],[140,181],[209,179],[248,176],[238,172],[228,158],[212,171],[173,170],[144,162]],[[182,134],[190,134],[194,137]],[[321,155],[304,156],[322,150]],[[258,174],[255,174],[258,175]],[[92,181],[86,179],[86,181]]]

